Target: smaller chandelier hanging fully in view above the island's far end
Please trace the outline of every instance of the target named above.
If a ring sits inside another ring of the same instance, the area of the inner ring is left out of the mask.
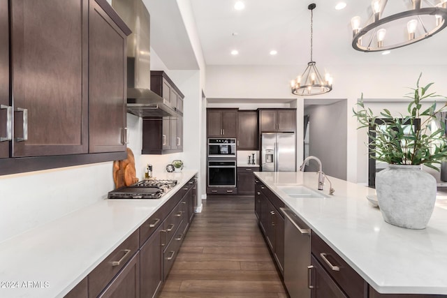
[[[446,0],[447,1],[447,0]],[[332,77],[325,73],[324,78],[316,69],[315,61],[312,59],[312,39],[314,38],[314,8],[316,4],[307,6],[311,11],[310,19],[310,62],[307,64],[302,75],[298,75],[296,80],[291,81],[292,93],[295,95],[317,95],[324,94],[332,90]]]

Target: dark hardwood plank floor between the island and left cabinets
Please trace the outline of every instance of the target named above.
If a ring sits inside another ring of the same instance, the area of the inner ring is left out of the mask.
[[[253,197],[203,200],[159,297],[288,297],[258,228]]]

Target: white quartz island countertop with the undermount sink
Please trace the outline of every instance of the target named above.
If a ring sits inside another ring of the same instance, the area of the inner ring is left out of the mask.
[[[365,198],[375,190],[330,177],[334,195],[291,198],[278,188],[301,184],[317,191],[315,172],[255,172],[286,206],[334,249],[372,287],[383,294],[447,295],[447,210],[445,196],[427,228],[409,230],[383,221]]]

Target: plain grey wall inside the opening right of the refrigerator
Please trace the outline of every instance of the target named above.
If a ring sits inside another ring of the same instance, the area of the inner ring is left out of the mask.
[[[309,115],[309,155],[321,160],[325,174],[346,180],[346,100],[311,105],[305,114]],[[315,172],[318,167],[311,161],[309,169]]]

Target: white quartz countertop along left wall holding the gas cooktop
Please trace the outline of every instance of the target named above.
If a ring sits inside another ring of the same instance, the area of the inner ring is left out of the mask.
[[[157,200],[102,200],[0,243],[0,297],[64,297],[197,172]]]

